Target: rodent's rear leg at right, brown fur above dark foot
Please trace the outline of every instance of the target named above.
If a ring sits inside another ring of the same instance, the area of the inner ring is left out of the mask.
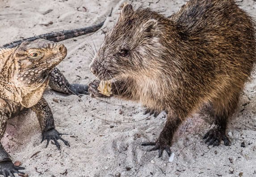
[[[226,135],[227,120],[237,107],[239,92],[229,93],[221,98],[212,102],[211,114],[214,118],[214,126],[203,137],[208,145],[218,146],[222,140],[224,145],[230,145],[230,140]]]

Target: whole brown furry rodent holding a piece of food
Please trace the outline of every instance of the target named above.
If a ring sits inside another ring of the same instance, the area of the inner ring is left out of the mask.
[[[227,119],[256,60],[256,28],[234,0],[190,0],[170,18],[149,8],[126,5],[90,64],[99,80],[114,78],[113,95],[168,113],[151,150],[170,155],[179,125],[204,104],[215,126],[209,145],[230,145]],[[98,81],[90,84],[97,90]]]

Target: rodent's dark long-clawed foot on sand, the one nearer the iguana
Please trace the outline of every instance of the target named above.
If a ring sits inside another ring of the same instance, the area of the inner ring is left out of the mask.
[[[162,154],[163,154],[164,150],[168,153],[169,157],[172,154],[171,149],[170,149],[171,146],[170,145],[165,145],[165,143],[159,143],[158,141],[156,141],[156,142],[144,142],[141,145],[143,145],[143,146],[154,146],[151,149],[147,149],[147,152],[158,150],[158,157],[162,157]]]

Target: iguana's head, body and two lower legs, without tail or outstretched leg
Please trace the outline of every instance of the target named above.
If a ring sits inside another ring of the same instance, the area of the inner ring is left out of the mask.
[[[42,129],[43,140],[67,141],[55,130],[49,105],[42,97],[49,83],[51,70],[67,55],[63,44],[48,40],[23,42],[15,48],[0,48],[0,139],[3,137],[8,119],[17,116],[23,109],[32,109]],[[0,174],[4,177],[21,173],[23,167],[14,166],[8,153],[0,143]]]

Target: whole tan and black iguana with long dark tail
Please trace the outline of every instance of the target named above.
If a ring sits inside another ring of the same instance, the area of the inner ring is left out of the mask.
[[[59,69],[55,68],[67,55],[64,45],[55,42],[95,32],[103,24],[104,21],[91,27],[51,32],[0,47],[0,139],[4,135],[7,120],[29,108],[38,117],[42,141],[47,141],[46,147],[50,140],[55,142],[58,149],[60,145],[57,140],[69,146],[61,137],[62,133],[55,129],[53,114],[42,94],[47,85],[68,95],[88,94],[88,86],[69,84]],[[24,174],[19,171],[22,169],[25,168],[13,164],[0,143],[0,174],[14,177],[14,173]]]

